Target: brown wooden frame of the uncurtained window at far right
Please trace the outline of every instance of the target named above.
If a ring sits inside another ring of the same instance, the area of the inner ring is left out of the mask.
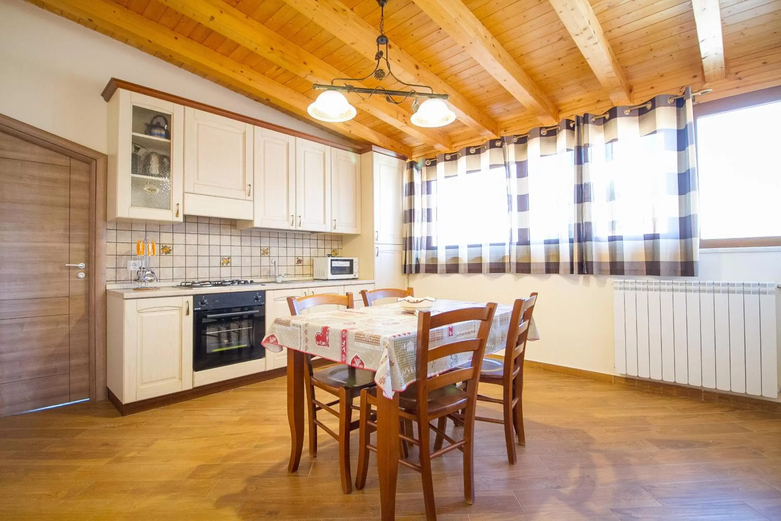
[[[711,102],[694,104],[694,145],[697,146],[697,120],[702,116],[712,116],[722,112],[747,109],[757,105],[781,102],[781,86],[769,87],[760,91],[715,99]],[[697,177],[700,174],[699,159],[697,159]],[[711,248],[765,248],[781,246],[781,236],[775,237],[734,237],[726,239],[700,239],[700,249]]]

